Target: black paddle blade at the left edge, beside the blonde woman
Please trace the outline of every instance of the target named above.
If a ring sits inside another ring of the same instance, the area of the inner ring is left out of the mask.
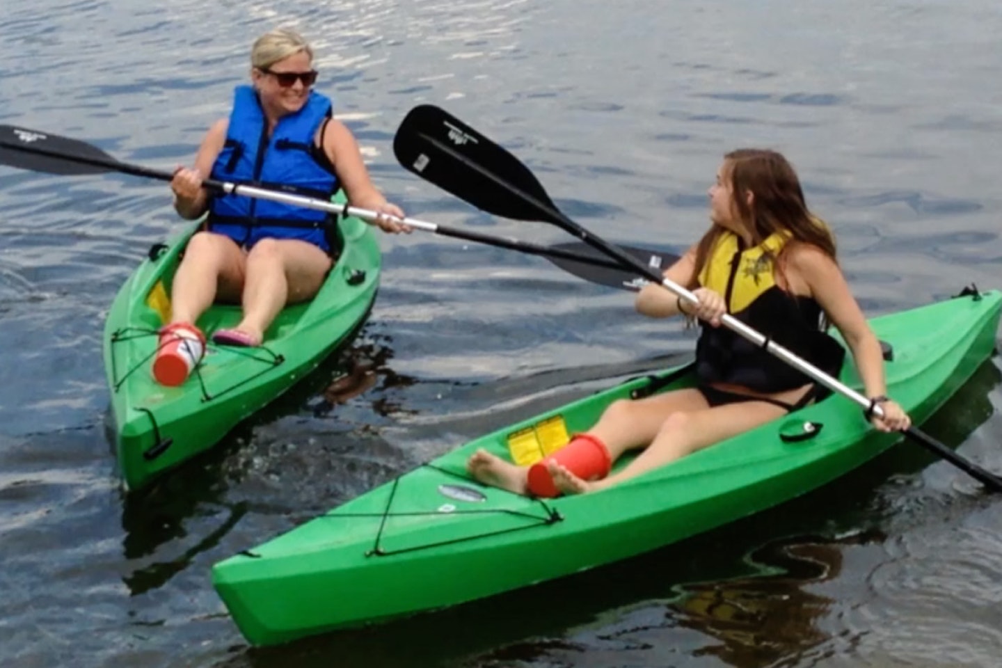
[[[117,160],[77,139],[13,125],[0,125],[0,164],[49,174],[100,174]]]

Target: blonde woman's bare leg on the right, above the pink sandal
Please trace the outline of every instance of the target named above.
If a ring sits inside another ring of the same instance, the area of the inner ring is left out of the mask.
[[[287,303],[312,298],[331,268],[330,255],[296,239],[262,239],[247,253],[243,318],[236,329],[261,343]]]

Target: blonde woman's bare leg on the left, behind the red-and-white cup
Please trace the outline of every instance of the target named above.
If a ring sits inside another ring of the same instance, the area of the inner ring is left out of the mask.
[[[170,288],[170,322],[192,324],[215,300],[239,294],[244,254],[227,236],[195,232],[184,249]]]

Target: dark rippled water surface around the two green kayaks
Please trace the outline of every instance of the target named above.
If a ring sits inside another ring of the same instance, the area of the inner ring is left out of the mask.
[[[432,102],[523,159],[603,236],[675,248],[720,156],[785,151],[870,314],[1002,287],[996,3],[5,0],[0,123],[189,162],[250,42],[315,40],[378,181],[409,213],[540,242],[405,172]],[[252,650],[209,583],[234,552],[513,420],[692,349],[625,293],[422,232],[381,239],[351,350],[144,499],[109,455],[100,336],[177,228],[168,189],[0,168],[4,666],[996,666],[1002,501],[910,446],[711,534],[459,609]],[[324,389],[353,364],[376,383]],[[1002,471],[990,361],[928,431]]]

